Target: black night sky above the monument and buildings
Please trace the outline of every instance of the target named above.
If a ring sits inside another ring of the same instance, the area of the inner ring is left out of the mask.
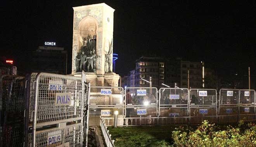
[[[3,1],[0,55],[14,58],[18,70],[26,71],[31,51],[55,41],[69,53],[70,73],[72,7],[102,2],[115,9],[113,48],[121,75],[142,55],[203,60],[221,75],[244,74],[248,66],[256,72],[255,1]]]

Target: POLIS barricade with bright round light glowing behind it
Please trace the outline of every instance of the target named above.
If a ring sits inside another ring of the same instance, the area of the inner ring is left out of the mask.
[[[125,89],[125,116],[129,118],[156,117],[157,88],[127,87]]]

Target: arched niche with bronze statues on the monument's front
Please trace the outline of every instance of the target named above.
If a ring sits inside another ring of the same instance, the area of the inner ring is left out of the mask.
[[[98,23],[95,18],[86,16],[78,25],[78,58],[80,57],[81,72],[95,72],[96,71],[96,46]]]

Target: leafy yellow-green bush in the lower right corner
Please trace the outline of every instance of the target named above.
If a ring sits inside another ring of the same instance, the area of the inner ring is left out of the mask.
[[[256,125],[239,121],[235,127],[215,126],[205,120],[196,130],[176,128],[172,138],[178,147],[255,147]]]

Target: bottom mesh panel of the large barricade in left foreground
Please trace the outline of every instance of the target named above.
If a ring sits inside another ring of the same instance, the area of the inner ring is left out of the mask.
[[[36,147],[81,147],[83,132],[82,125],[67,126],[63,129],[52,129],[36,134]]]

